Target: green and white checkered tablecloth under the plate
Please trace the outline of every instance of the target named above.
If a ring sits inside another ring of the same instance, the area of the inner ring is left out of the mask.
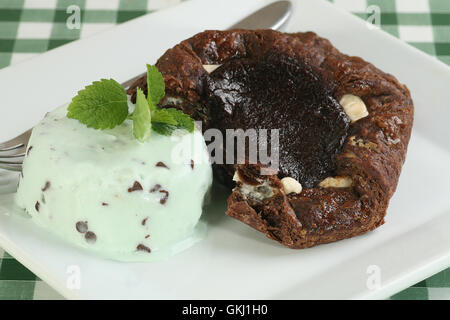
[[[0,0],[0,68],[180,1]],[[379,21],[383,30],[450,65],[450,0],[330,1],[365,20]],[[79,26],[73,18],[76,8]],[[0,248],[0,300],[58,298]],[[450,299],[450,268],[392,298]]]

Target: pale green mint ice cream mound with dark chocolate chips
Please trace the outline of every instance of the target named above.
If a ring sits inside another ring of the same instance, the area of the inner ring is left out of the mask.
[[[122,261],[159,260],[201,239],[212,171],[200,132],[140,143],[129,120],[100,131],[66,113],[47,114],[28,144],[16,202],[39,225]]]

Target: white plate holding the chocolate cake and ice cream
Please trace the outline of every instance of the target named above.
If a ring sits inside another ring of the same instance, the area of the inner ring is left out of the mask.
[[[0,141],[31,127],[86,83],[101,77],[124,81],[180,40],[226,28],[266,2],[184,2],[2,70]],[[413,137],[384,226],[290,250],[225,216],[226,192],[218,188],[205,213],[210,229],[203,242],[165,262],[126,264],[49,236],[17,212],[7,194],[0,197],[0,245],[67,298],[386,298],[448,267],[450,68],[325,1],[295,2],[288,31],[305,30],[411,89]],[[70,289],[77,270],[81,286]]]

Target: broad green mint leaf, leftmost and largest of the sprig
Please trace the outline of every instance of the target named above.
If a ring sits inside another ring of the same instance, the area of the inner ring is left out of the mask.
[[[78,91],[67,111],[90,128],[112,129],[128,116],[127,94],[117,81],[101,79]]]

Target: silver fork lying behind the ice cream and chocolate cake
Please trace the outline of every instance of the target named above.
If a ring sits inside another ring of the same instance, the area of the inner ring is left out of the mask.
[[[253,14],[245,17],[229,29],[274,29],[282,30],[288,22],[292,13],[292,4],[290,1],[273,2]],[[125,89],[142,77],[142,73],[130,80],[122,83]],[[28,140],[31,136],[31,130],[22,133],[20,136],[0,143],[0,169],[21,171],[23,159],[27,152]]]

